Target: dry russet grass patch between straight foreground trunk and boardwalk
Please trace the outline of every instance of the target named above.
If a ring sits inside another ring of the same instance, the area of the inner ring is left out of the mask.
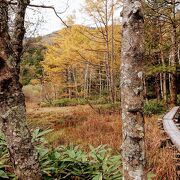
[[[164,135],[157,126],[157,119],[155,116],[145,121],[147,168],[157,175],[157,180],[174,180],[174,150],[170,145],[161,148]]]

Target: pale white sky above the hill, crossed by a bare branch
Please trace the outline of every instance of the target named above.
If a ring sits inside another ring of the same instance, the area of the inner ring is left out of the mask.
[[[67,7],[67,1],[68,0],[31,0],[31,4],[54,6],[57,12],[63,12]],[[83,24],[85,19],[81,12],[83,1],[84,0],[69,0],[68,9],[65,13],[60,14],[62,19],[65,20],[66,17],[75,13],[76,23]],[[64,27],[52,9],[29,7],[26,12],[26,20],[33,24],[33,26],[31,25],[30,31],[36,29],[36,35],[50,34]],[[37,26],[39,20],[41,23]]]

